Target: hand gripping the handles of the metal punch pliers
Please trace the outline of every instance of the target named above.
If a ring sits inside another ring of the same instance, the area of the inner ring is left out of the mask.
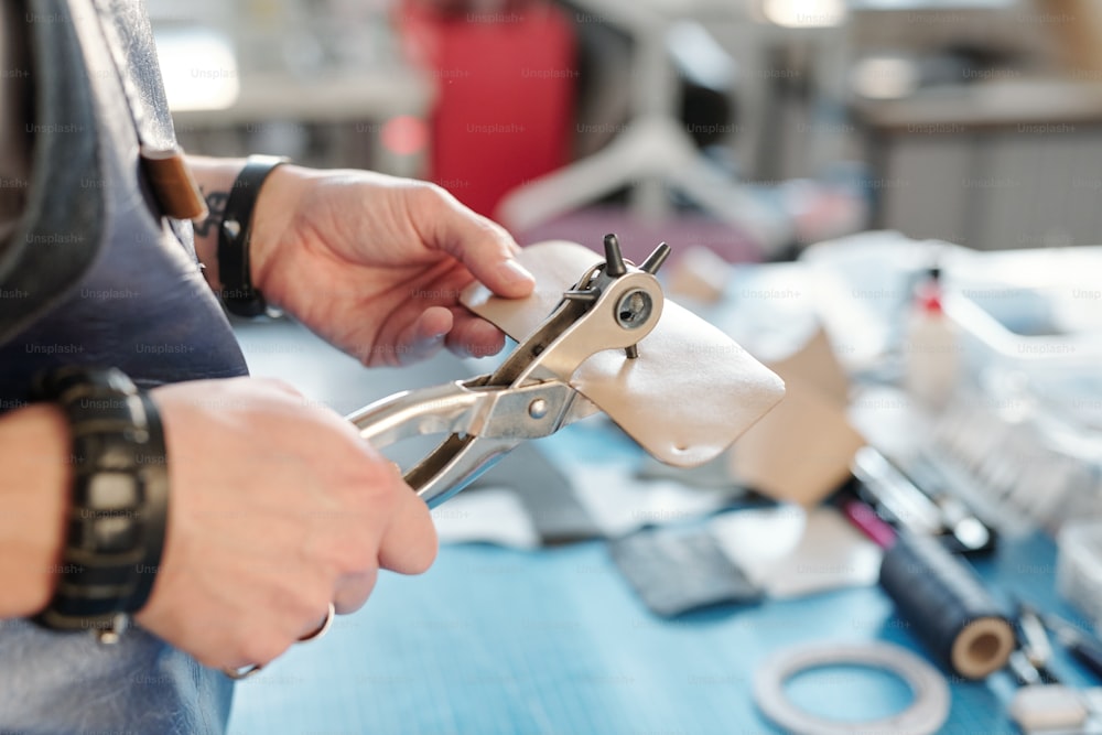
[[[350,613],[379,569],[423,572],[425,504],[336,413],[268,379],[152,393],[168,444],[164,554],[144,628],[212,667],[263,664]]]

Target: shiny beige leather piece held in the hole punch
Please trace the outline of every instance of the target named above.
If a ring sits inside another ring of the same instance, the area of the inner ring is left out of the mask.
[[[526,299],[494,296],[474,284],[462,295],[472,311],[517,341],[531,334],[562,292],[603,259],[575,242],[525,248],[518,260],[536,275]],[[785,385],[728,336],[669,299],[639,357],[605,350],[585,360],[571,385],[648,453],[690,467],[719,456],[785,394]]]

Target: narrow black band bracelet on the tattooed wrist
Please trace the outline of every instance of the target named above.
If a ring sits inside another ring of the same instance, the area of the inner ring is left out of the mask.
[[[252,235],[252,209],[268,175],[288,159],[277,155],[250,155],[234,181],[226,199],[226,210],[218,227],[218,278],[222,302],[238,316],[259,316],[267,304],[252,285],[249,271],[249,241]]]

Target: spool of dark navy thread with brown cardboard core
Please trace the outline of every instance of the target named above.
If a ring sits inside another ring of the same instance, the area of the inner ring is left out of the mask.
[[[884,554],[880,586],[915,634],[958,675],[1006,666],[1014,628],[975,573],[932,537],[901,533]]]

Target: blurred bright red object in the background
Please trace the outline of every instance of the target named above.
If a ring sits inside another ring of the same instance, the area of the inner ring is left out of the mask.
[[[428,177],[493,216],[507,192],[569,161],[574,34],[542,0],[465,7],[406,0],[398,25],[436,85]]]

